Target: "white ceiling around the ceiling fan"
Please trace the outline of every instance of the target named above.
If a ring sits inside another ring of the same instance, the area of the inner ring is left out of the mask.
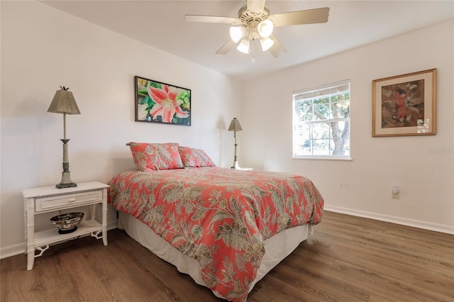
[[[328,23],[275,28],[280,57],[216,50],[228,24],[189,23],[185,14],[237,17],[246,1],[40,1],[165,52],[238,79],[274,72],[454,18],[454,1],[266,1],[271,14],[329,7]],[[454,37],[446,37],[453,39]],[[257,41],[256,41],[257,42]],[[258,43],[258,42],[257,42]]]

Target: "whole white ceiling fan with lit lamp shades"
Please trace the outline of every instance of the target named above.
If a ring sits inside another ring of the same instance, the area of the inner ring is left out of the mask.
[[[251,51],[251,43],[258,39],[263,51],[270,50],[274,57],[279,57],[287,50],[272,35],[273,28],[326,23],[328,22],[328,13],[329,8],[323,7],[270,15],[270,9],[265,6],[265,0],[247,0],[246,4],[238,11],[238,18],[186,15],[184,16],[184,21],[231,24],[231,38],[216,51],[218,55],[226,55],[234,47],[240,52],[249,53]]]

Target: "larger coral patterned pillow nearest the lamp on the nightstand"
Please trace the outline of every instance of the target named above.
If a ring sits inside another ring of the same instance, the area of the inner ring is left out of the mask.
[[[175,142],[165,144],[130,142],[128,145],[138,171],[184,168],[178,144]]]

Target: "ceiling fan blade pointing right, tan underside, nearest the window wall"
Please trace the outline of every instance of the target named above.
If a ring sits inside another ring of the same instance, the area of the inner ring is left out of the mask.
[[[329,7],[321,9],[306,9],[305,11],[291,11],[289,13],[277,13],[271,15],[273,25],[291,26],[299,24],[326,23],[328,22]]]

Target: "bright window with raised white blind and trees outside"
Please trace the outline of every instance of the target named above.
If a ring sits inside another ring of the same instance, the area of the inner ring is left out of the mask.
[[[350,159],[350,80],[293,92],[293,157]]]

